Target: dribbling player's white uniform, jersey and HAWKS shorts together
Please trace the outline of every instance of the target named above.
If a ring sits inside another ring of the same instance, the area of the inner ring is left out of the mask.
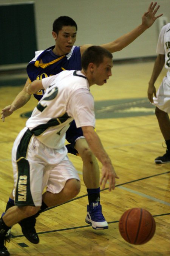
[[[77,127],[95,127],[94,99],[81,71],[62,71],[42,83],[45,94],[12,148],[18,206],[41,206],[46,186],[59,193],[68,179],[80,180],[66,155],[65,132],[73,119]]]

